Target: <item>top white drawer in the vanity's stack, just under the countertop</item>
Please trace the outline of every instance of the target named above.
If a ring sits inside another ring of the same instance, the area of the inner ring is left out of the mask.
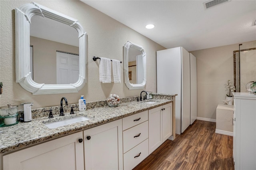
[[[140,113],[137,113],[135,115],[131,115],[128,117],[124,117],[122,119],[123,121],[123,130],[126,130],[130,127],[134,127],[144,121],[148,120],[148,111],[143,111]]]

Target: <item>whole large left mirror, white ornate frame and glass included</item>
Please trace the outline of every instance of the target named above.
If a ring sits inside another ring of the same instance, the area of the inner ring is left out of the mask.
[[[40,95],[84,87],[87,34],[78,20],[32,2],[15,9],[15,33],[16,82],[24,89]]]

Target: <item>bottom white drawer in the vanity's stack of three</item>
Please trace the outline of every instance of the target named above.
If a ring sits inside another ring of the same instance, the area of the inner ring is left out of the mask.
[[[138,157],[136,157],[138,156]],[[148,139],[124,154],[124,170],[131,170],[148,156]],[[135,157],[135,158],[134,158]]]

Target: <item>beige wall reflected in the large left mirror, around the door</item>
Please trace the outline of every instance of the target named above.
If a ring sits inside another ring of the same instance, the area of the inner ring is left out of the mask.
[[[30,36],[33,45],[33,80],[56,84],[56,51],[79,54],[79,47]]]

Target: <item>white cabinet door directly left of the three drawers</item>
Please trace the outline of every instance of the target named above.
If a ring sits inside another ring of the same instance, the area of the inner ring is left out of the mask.
[[[122,150],[122,119],[84,130],[86,170],[122,169]]]

